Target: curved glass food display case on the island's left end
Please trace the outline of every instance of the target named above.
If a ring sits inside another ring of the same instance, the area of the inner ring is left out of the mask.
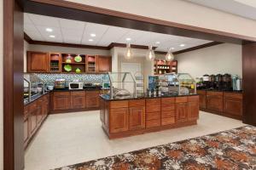
[[[103,77],[103,83],[109,83],[111,99],[137,97],[136,81],[130,72],[108,72]]]

